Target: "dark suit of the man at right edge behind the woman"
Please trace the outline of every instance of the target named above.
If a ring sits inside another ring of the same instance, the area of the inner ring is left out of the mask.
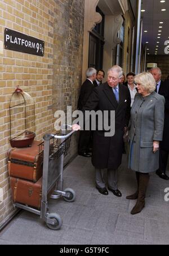
[[[161,82],[159,87],[160,95],[164,96],[166,100],[165,104],[165,117],[164,117],[164,131],[163,141],[160,143],[160,159],[159,159],[159,172],[166,173],[168,153],[169,153],[169,82]]]

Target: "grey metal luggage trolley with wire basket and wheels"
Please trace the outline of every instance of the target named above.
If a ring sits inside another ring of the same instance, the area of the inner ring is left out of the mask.
[[[72,127],[65,125],[63,134],[46,134],[43,136],[44,142],[39,145],[39,155],[43,157],[43,179],[42,179],[42,200],[41,210],[26,206],[20,203],[14,203],[14,206],[23,210],[37,214],[46,222],[48,228],[58,230],[63,221],[59,214],[49,213],[48,195],[50,198],[58,199],[63,197],[66,202],[73,202],[75,192],[72,189],[63,191],[63,167],[64,156],[70,147],[71,136],[75,131],[65,134],[66,128]],[[51,193],[52,191],[52,193]]]

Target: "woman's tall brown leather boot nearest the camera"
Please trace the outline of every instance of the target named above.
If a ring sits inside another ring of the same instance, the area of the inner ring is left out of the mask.
[[[145,195],[149,184],[149,174],[140,173],[140,184],[139,184],[139,197],[135,207],[132,209],[131,214],[139,214],[145,207]]]

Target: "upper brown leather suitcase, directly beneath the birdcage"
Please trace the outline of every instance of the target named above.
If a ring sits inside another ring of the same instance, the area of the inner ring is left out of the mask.
[[[43,159],[39,157],[39,144],[41,142],[34,141],[32,147],[8,150],[10,176],[33,182],[37,182],[42,177]]]

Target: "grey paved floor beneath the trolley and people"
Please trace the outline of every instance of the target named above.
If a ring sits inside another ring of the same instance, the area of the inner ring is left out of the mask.
[[[78,156],[64,172],[64,187],[77,194],[74,203],[62,199],[50,201],[50,212],[63,218],[60,231],[52,231],[42,220],[22,212],[14,223],[0,234],[0,244],[116,245],[169,244],[169,202],[164,189],[169,182],[151,176],[146,207],[131,216],[135,201],[126,195],[135,191],[135,175],[126,169],[126,156],[119,168],[119,189],[122,198],[112,193],[107,197],[95,189],[94,168],[90,159]]]

